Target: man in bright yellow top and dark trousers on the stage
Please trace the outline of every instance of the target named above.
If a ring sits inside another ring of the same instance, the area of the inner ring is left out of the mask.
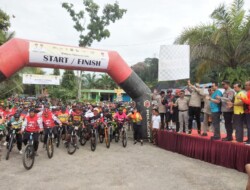
[[[242,91],[241,83],[234,84],[234,91],[236,92],[234,102],[228,101],[227,104],[229,107],[233,106],[233,128],[236,129],[236,141],[243,142],[243,123],[244,123],[244,104],[242,98],[246,98],[245,93]]]

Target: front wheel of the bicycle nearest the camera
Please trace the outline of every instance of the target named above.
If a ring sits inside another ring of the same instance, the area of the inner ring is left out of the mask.
[[[23,154],[23,166],[26,170],[30,170],[35,162],[35,152],[32,145],[27,145]]]

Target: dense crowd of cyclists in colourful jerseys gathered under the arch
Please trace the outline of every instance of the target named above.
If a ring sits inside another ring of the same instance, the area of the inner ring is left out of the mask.
[[[11,129],[18,131],[16,135],[17,148],[22,154],[22,145],[26,145],[30,133],[33,133],[34,150],[38,150],[39,135],[44,134],[44,146],[48,138],[49,130],[52,129],[55,139],[59,128],[65,144],[69,142],[73,126],[86,127],[87,123],[96,122],[98,132],[100,126],[107,121],[113,122],[113,132],[121,130],[126,123],[132,125],[134,132],[134,144],[140,142],[142,138],[142,116],[136,107],[122,103],[62,103],[56,101],[52,103],[47,98],[30,99],[11,97],[0,102],[0,124],[5,125],[7,134],[4,145],[8,146]],[[36,152],[37,154],[37,152]]]

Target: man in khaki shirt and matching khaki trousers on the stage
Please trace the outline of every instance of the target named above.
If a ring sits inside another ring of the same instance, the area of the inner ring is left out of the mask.
[[[179,123],[180,127],[178,130],[178,133],[182,133],[183,131],[183,125],[185,124],[185,128],[188,128],[188,104],[189,99],[185,97],[185,91],[181,90],[179,93],[180,97],[176,100],[174,106],[178,107],[179,111]]]

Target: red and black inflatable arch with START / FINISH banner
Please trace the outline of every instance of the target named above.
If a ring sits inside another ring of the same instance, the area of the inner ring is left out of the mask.
[[[117,52],[17,38],[0,46],[0,82],[26,66],[108,73],[136,102],[143,117],[143,137],[150,137],[151,91]]]

